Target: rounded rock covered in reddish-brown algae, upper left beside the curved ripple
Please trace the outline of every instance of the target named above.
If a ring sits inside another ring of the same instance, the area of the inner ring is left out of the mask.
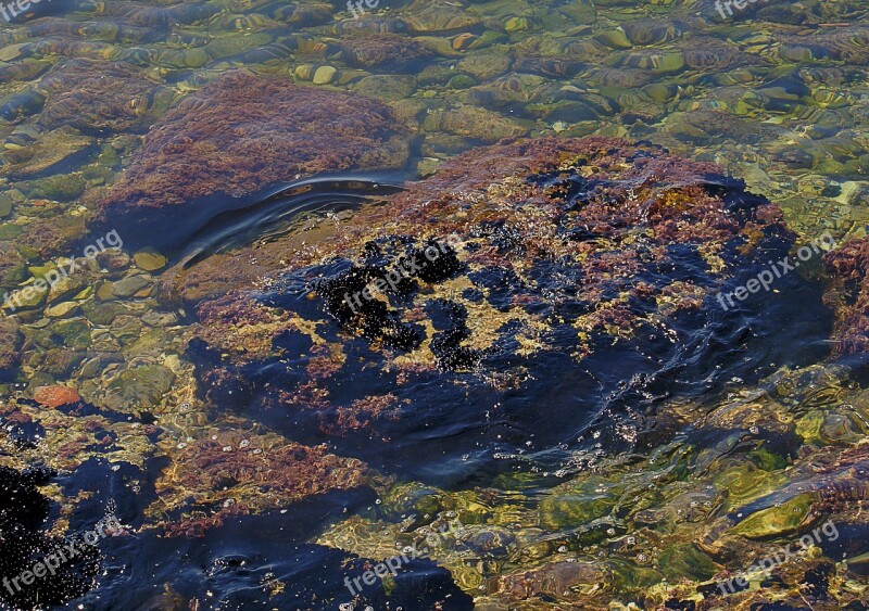
[[[407,136],[389,107],[368,98],[231,73],[151,129],[100,203],[98,222],[133,225],[122,233],[137,244],[177,245],[173,239],[196,229],[198,217],[238,207],[239,198],[277,183],[400,168]]]

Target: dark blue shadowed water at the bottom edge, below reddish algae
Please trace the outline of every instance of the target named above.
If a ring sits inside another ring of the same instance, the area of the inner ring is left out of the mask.
[[[204,608],[338,610],[351,599],[345,580],[366,570],[366,562],[340,549],[306,543],[312,532],[345,511],[365,511],[371,491],[343,491],[302,501],[291,511],[274,511],[227,520],[203,538],[160,538],[153,532],[103,542],[103,574],[99,593],[75,601],[75,608],[138,611]],[[371,562],[373,561],[373,562]],[[178,567],[186,569],[178,571]],[[470,597],[453,583],[449,571],[425,558],[400,568],[387,593],[379,581],[363,590],[376,609],[473,609]],[[203,608],[203,607],[200,607]]]

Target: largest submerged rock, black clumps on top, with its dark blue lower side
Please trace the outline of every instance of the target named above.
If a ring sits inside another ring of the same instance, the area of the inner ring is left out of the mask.
[[[199,305],[190,356],[213,407],[292,415],[368,462],[410,461],[350,440],[427,430],[438,451],[449,435],[456,456],[509,453],[530,420],[534,444],[630,447],[667,396],[826,354],[774,342],[788,317],[826,336],[816,287],[732,301],[792,243],[778,207],[713,164],[604,138],[483,148],[314,245],[236,252],[281,263]],[[483,428],[492,405],[504,421]]]

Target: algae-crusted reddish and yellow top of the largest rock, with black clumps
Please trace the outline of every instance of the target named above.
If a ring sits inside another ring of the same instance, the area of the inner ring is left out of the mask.
[[[348,294],[446,237],[455,250],[440,268],[347,305]],[[426,412],[420,404],[465,405],[464,382],[450,372],[500,375],[507,389],[521,385],[517,371],[534,374],[532,355],[557,354],[583,371],[606,368],[595,355],[614,349],[681,351],[668,338],[691,338],[722,316],[716,289],[759,257],[785,254],[793,237],[778,206],[715,164],[609,138],[506,142],[446,162],[386,205],[363,206],[315,247],[284,237],[224,257],[270,270],[255,289],[192,304],[200,326],[189,356],[209,404],[289,409],[302,430],[333,441],[387,440],[423,425],[413,422]],[[219,267],[202,271],[221,278]],[[273,358],[292,364],[292,383],[252,387]],[[504,359],[520,365],[506,369]],[[336,392],[366,362],[381,368],[377,391]],[[414,392],[431,375],[455,398]]]

